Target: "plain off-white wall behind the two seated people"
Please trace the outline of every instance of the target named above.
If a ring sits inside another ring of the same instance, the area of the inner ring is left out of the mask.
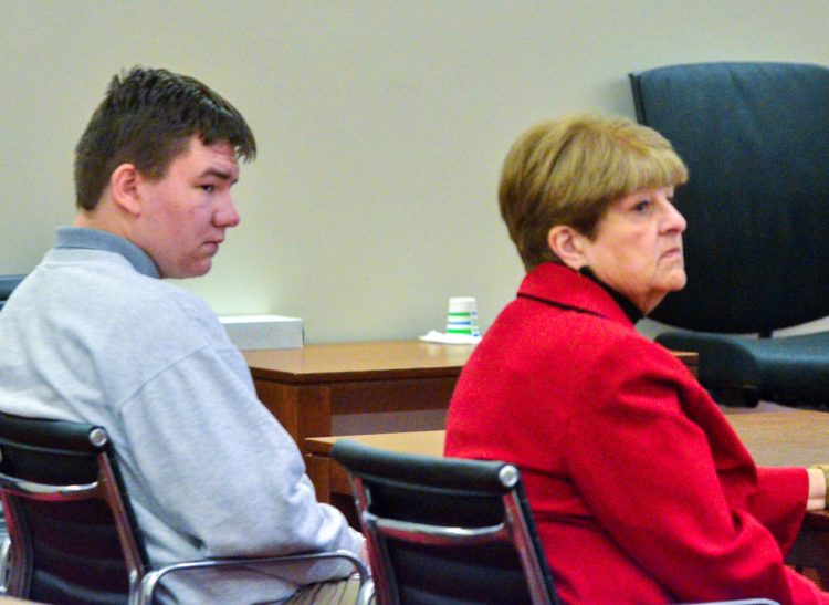
[[[714,60],[829,64],[826,0],[0,0],[0,273],[73,217],[72,153],[112,74],[203,80],[260,145],[242,226],[207,278],[220,314],[304,319],[308,342],[482,325],[522,277],[501,160],[532,123],[633,115],[627,73]]]

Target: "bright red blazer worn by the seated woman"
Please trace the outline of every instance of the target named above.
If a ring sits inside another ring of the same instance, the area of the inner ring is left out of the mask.
[[[518,466],[565,603],[829,603],[783,561],[806,470],[757,468],[688,368],[565,267],[528,273],[475,348],[445,455]]]

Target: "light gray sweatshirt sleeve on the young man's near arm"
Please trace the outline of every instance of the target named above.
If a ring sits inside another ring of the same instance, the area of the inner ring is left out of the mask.
[[[361,535],[316,501],[291,436],[214,350],[154,376],[120,416],[133,497],[204,556],[359,553]],[[288,580],[305,584],[344,571],[314,565]]]

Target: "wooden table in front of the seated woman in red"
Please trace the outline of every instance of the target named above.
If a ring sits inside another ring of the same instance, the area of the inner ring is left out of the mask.
[[[806,467],[829,462],[829,413],[767,411],[726,415],[758,465]],[[385,435],[349,436],[367,446],[402,453],[442,456],[443,430]],[[332,502],[355,523],[354,499],[345,470],[330,459],[334,442],[342,437],[306,440],[308,476],[322,501]],[[817,570],[823,586],[829,586],[829,513],[806,514],[797,542],[787,557],[791,565]]]

